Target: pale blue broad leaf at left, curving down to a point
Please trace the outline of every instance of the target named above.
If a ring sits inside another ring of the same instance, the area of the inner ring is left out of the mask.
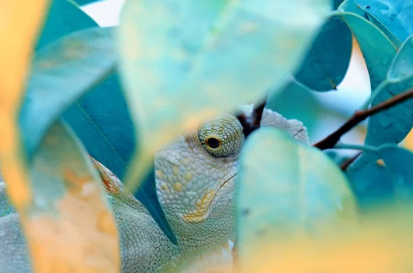
[[[107,77],[115,61],[112,27],[75,32],[39,51],[19,117],[29,158],[34,156],[47,128],[76,99]]]

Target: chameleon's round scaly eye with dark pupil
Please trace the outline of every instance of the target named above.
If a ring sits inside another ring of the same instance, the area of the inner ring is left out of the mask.
[[[216,158],[236,157],[244,143],[242,126],[234,116],[224,115],[198,130],[200,144]]]

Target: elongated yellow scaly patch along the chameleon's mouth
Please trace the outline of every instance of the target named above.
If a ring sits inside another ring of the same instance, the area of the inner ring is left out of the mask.
[[[224,185],[226,185],[227,182],[231,181],[237,174],[234,174],[231,176],[229,179],[225,180],[222,185],[216,190],[216,191],[209,191],[207,192],[202,200],[198,200],[198,202],[195,204],[196,208],[191,211],[191,213],[187,213],[182,215],[182,219],[184,219],[185,222],[191,222],[191,223],[199,223],[204,221],[205,219],[208,218],[209,214],[211,213],[211,204],[213,204],[213,200],[215,200],[215,197],[218,195],[218,192]]]

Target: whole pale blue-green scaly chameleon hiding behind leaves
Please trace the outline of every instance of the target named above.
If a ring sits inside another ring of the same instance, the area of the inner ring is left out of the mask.
[[[252,111],[253,105],[242,107],[246,117]],[[309,143],[306,127],[296,119],[285,119],[264,108],[260,123]],[[167,238],[112,171],[92,158],[116,219],[121,272],[231,270],[236,239],[235,183],[244,141],[240,121],[223,114],[182,134],[156,154],[156,192],[178,244]],[[5,182],[0,182],[0,272],[32,272],[19,215],[8,202]]]

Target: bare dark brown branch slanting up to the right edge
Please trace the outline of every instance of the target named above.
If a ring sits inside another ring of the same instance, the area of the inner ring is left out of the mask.
[[[314,147],[317,147],[320,150],[331,149],[337,144],[337,142],[339,142],[343,134],[346,134],[346,132],[350,131],[352,128],[354,128],[354,126],[357,126],[357,124],[359,124],[364,119],[367,119],[368,117],[377,114],[378,112],[391,108],[392,106],[404,102],[405,100],[412,97],[413,90],[406,91],[392,97],[391,99],[381,102],[380,104],[377,104],[376,106],[373,106],[368,110],[354,112],[354,114],[350,117],[350,119],[348,119],[348,121],[346,121],[346,123],[344,123],[335,132],[332,132],[332,134],[328,135],[328,137],[326,137],[325,139],[315,143]]]

